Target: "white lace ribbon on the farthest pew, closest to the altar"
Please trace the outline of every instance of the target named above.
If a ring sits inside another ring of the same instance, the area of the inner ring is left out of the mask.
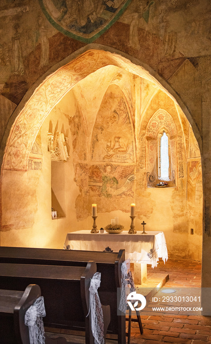
[[[130,287],[128,287],[128,285],[130,285]],[[126,313],[127,294],[135,290],[133,277],[130,271],[130,260],[128,259],[121,264],[121,295],[118,309],[122,313]]]

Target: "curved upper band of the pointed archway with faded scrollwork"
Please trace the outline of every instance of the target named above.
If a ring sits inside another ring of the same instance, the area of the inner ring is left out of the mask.
[[[86,47],[86,49],[89,48],[98,48],[98,45],[92,44]],[[100,49],[102,48],[105,47],[101,46]],[[23,108],[20,109],[20,104],[14,112],[13,118],[15,116],[15,119],[11,129],[7,128],[7,132],[9,129],[10,131],[5,148],[3,147],[4,155],[1,171],[27,171],[27,161],[31,147],[50,110],[81,79],[107,65],[115,65],[125,69],[126,71],[136,74],[144,79],[150,80],[165,92],[167,90],[168,95],[178,102],[187,116],[191,126],[193,127],[193,132],[199,143],[199,147],[201,147],[201,138],[198,129],[195,126],[186,106],[181,102],[181,99],[177,96],[174,90],[171,89],[170,86],[158,75],[155,75],[155,72],[150,70],[149,67],[146,69],[146,66],[142,67],[140,62],[134,58],[126,56],[125,54],[122,56],[122,53],[120,55],[120,52],[117,53],[116,51],[114,53],[114,50],[112,49],[111,52],[96,49],[87,50],[79,57],[76,57],[59,69],[56,69],[52,74],[49,74],[47,78],[35,88],[33,94],[24,104]],[[30,93],[31,90],[28,91],[28,94]],[[8,126],[9,125],[10,124],[8,124]],[[5,142],[5,138],[3,142]]]

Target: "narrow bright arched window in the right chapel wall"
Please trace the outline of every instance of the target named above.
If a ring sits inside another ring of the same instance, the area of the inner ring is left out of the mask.
[[[165,132],[160,137],[159,149],[159,179],[169,180],[169,142]]]

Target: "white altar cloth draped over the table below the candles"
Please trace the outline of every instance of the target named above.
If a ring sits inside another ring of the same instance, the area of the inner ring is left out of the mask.
[[[168,259],[164,232],[148,230],[147,234],[128,234],[123,230],[119,234],[91,233],[90,230],[78,230],[67,233],[65,250],[110,251],[125,249],[125,258],[133,263],[157,266],[159,258]],[[110,251],[111,252],[111,251]]]

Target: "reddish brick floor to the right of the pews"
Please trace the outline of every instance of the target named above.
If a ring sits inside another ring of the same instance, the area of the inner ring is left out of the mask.
[[[131,266],[133,268],[133,266]],[[147,267],[150,271],[150,266]],[[164,287],[201,287],[201,263],[188,259],[159,261],[153,273],[168,273],[169,281]],[[142,312],[142,311],[141,311]],[[140,314],[141,314],[140,312]],[[132,322],[133,344],[202,344],[211,343],[211,316],[161,313],[147,315],[142,320],[143,335],[137,331],[138,324]],[[150,332],[149,332],[150,331]]]

